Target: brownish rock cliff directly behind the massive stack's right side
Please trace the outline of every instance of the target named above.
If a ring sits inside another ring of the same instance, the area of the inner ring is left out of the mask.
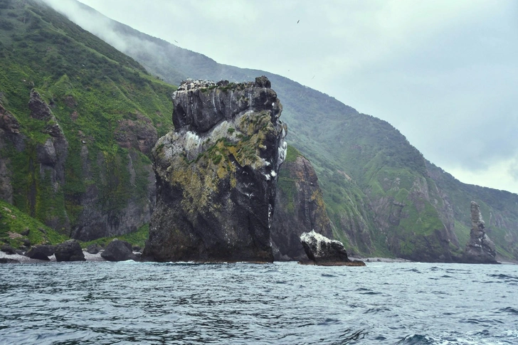
[[[310,161],[294,147],[279,171],[275,213],[271,229],[275,260],[307,260],[300,235],[315,233],[332,238],[322,191]]]

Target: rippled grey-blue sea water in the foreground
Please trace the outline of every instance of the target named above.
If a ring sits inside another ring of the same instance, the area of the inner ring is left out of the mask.
[[[518,344],[518,266],[0,265],[0,344]]]

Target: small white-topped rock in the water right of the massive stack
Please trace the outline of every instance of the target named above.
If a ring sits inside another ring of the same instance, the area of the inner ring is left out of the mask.
[[[307,258],[310,258],[310,260],[314,261],[317,265],[365,265],[365,263],[361,261],[349,260],[342,242],[329,240],[329,238],[315,233],[313,230],[310,233],[302,233],[302,235],[300,235],[300,243],[302,243],[304,247]]]

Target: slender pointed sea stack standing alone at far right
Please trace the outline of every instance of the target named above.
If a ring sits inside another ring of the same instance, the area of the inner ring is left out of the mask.
[[[462,255],[465,263],[499,263],[496,260],[497,251],[495,243],[492,243],[485,233],[485,223],[482,221],[480,205],[471,202],[471,232],[470,240]]]

